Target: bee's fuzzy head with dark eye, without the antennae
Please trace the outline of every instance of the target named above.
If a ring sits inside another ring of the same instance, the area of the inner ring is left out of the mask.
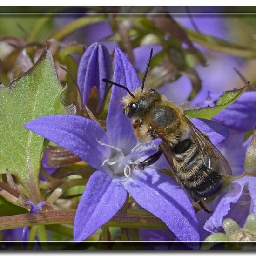
[[[123,98],[123,113],[129,118],[142,117],[146,114],[147,109],[155,104],[155,101],[160,100],[160,94],[154,89],[144,91],[140,90],[134,92],[134,97],[127,95]]]

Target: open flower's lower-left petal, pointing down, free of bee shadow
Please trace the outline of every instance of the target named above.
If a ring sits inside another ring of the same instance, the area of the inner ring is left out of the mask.
[[[104,172],[95,171],[79,202],[74,219],[74,241],[83,241],[108,222],[126,200],[127,192]]]

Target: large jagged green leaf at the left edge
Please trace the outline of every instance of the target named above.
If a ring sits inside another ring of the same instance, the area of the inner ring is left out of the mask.
[[[8,168],[34,202],[41,201],[38,174],[44,139],[23,126],[43,115],[64,114],[61,91],[48,50],[27,73],[0,88],[0,173]]]

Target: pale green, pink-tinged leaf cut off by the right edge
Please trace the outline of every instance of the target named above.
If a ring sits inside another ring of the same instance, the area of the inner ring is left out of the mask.
[[[245,172],[256,172],[256,127],[253,130],[250,146],[244,162]]]

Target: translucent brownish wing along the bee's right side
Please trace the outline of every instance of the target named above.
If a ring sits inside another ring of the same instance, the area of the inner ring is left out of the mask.
[[[206,135],[204,135],[195,127],[195,125],[187,117],[185,117],[185,119],[190,128],[190,138],[193,142],[196,143],[197,147],[202,151],[203,155],[205,156],[204,159],[207,159],[208,157],[209,159],[214,158],[214,160],[218,162],[219,165],[222,167],[217,168],[216,171],[224,175],[231,175],[232,172],[229,163],[222,155],[222,153],[211,143],[211,141]]]

